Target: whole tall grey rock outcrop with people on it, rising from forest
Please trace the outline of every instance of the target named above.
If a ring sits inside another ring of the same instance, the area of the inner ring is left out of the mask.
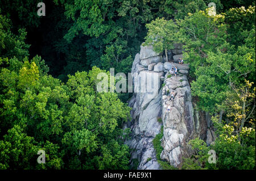
[[[162,54],[154,52],[152,46],[141,46],[141,52],[135,56],[133,62],[131,73],[134,94],[129,101],[129,106],[133,108],[132,120],[128,121],[124,128],[131,129],[131,139],[126,140],[125,144],[133,149],[131,164],[137,160],[137,169],[161,169],[152,140],[160,133],[162,125],[163,151],[160,158],[175,167],[181,166],[183,156],[191,154],[187,146],[189,140],[195,137],[203,140],[208,138],[209,142],[214,140],[214,134],[207,131],[207,117],[193,108],[187,78],[189,65],[176,64],[173,60],[182,57],[182,54],[176,54],[182,52],[182,45],[175,44],[174,47],[170,62],[164,62]],[[178,69],[176,77],[170,75],[172,66]],[[170,100],[172,91],[175,92],[173,101]],[[171,111],[167,112],[169,104]],[[159,119],[162,119],[162,122],[158,121]]]

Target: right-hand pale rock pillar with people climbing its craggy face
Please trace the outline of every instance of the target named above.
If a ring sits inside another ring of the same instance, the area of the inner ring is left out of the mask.
[[[194,132],[193,106],[191,102],[191,90],[185,75],[164,79],[166,85],[162,90],[162,120],[163,140],[160,157],[175,167],[181,166],[182,156],[187,155],[187,140]],[[181,76],[181,77],[180,77]],[[168,98],[167,92],[175,92],[173,101]],[[171,105],[171,111],[167,112],[167,106]]]

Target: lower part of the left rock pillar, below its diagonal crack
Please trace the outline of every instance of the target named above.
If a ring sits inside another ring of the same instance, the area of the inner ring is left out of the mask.
[[[148,106],[144,110],[139,109],[139,112],[135,113],[137,116],[134,116],[133,112],[137,110],[137,106],[135,106],[137,99],[135,99],[135,102],[133,99],[130,100],[130,102],[134,102],[133,110],[131,111],[133,120],[127,123],[125,128],[131,128],[132,139],[125,141],[125,144],[134,149],[131,153],[131,158],[138,159],[139,165],[137,169],[139,170],[160,169],[152,140],[160,132],[162,126],[158,122],[158,118],[161,115],[161,98],[162,94],[159,92],[155,99],[151,99],[148,102]]]

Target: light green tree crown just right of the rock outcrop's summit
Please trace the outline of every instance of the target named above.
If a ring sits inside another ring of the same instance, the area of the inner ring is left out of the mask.
[[[192,75],[196,68],[204,66],[208,52],[226,48],[226,25],[223,15],[209,15],[209,9],[188,14],[177,24],[179,41],[184,43],[184,58],[188,60]],[[216,31],[218,30],[218,31]]]

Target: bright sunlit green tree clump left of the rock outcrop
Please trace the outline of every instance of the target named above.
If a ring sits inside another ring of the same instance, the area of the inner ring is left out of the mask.
[[[16,58],[6,61],[10,64],[0,73],[0,138],[19,127],[16,136],[26,137],[32,144],[28,149],[19,148],[19,155],[28,157],[26,163],[20,163],[22,168],[127,169],[129,149],[123,145],[126,131],[122,124],[129,117],[130,108],[117,94],[96,89],[98,73],[109,76],[109,72],[93,67],[88,73],[77,72],[69,76],[67,83],[61,83],[47,75],[48,69],[38,56],[24,58],[23,62]],[[21,167],[17,159],[10,165],[5,153],[18,145],[7,148],[8,140],[0,140],[0,150],[5,155],[0,159],[1,167]],[[46,165],[32,163],[39,148],[46,151]]]

